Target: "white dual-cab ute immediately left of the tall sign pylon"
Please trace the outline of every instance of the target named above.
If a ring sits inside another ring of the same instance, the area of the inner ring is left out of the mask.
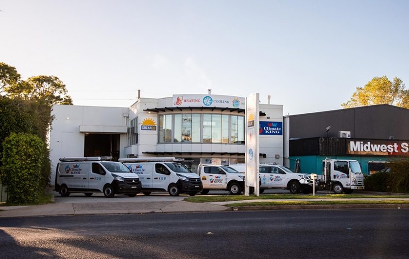
[[[238,195],[244,190],[244,173],[223,165],[199,164],[197,173],[203,184],[202,194],[209,190],[227,190]]]

